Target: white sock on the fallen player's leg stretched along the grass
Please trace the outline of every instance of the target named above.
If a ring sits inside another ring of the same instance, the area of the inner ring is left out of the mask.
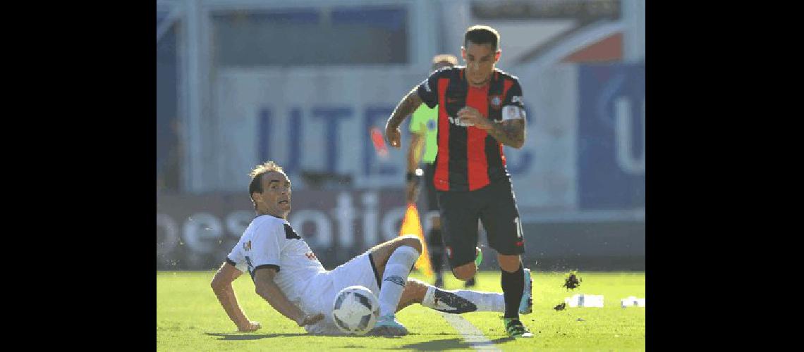
[[[461,314],[469,312],[505,313],[503,293],[479,292],[470,290],[447,291],[430,286],[421,305],[445,313]]]

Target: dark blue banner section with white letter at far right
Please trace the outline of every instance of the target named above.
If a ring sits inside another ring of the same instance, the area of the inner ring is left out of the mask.
[[[645,65],[583,65],[580,209],[645,208]]]

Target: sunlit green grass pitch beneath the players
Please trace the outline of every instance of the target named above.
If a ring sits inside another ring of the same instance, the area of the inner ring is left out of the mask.
[[[498,313],[461,314],[499,350],[645,350],[645,308],[621,308],[620,299],[645,297],[645,273],[585,273],[580,287],[562,287],[566,273],[534,272],[533,313],[521,316],[535,338],[507,338]],[[262,329],[239,333],[209,286],[213,272],[157,272],[156,337],[159,351],[200,350],[473,350],[435,310],[410,305],[397,318],[401,338],[311,336],[254,293],[248,274],[234,282],[240,306]],[[419,273],[412,277],[424,279]],[[462,282],[447,275],[446,289]],[[427,280],[425,280],[427,281]],[[499,272],[478,274],[475,290],[502,292]],[[564,297],[602,294],[603,308],[556,311]]]

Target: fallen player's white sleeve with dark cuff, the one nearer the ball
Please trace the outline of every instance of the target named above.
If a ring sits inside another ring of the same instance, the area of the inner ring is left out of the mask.
[[[272,221],[260,225],[252,238],[250,248],[246,251],[246,259],[251,262],[254,271],[260,268],[273,268],[279,272],[279,259],[285,248],[285,227],[281,222]]]

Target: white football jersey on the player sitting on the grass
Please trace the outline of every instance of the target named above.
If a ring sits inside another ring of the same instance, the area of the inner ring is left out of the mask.
[[[273,281],[290,301],[299,304],[306,297],[307,285],[318,273],[326,273],[324,265],[288,221],[270,215],[257,216],[248,224],[226,260],[240,271],[269,267],[277,270]]]

